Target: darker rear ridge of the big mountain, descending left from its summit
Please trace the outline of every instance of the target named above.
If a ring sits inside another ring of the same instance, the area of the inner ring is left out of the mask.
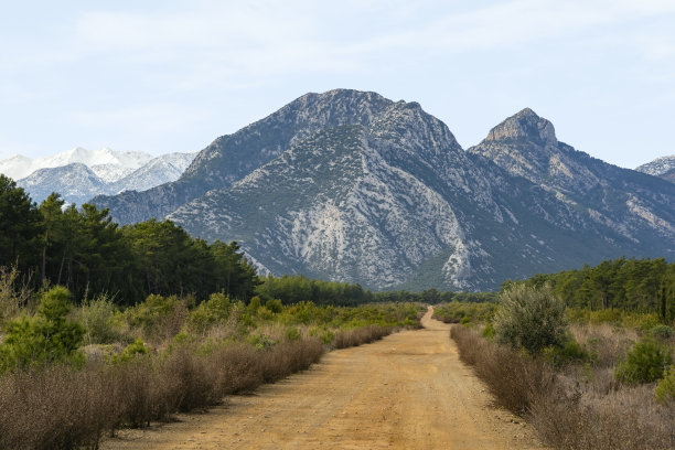
[[[366,125],[390,104],[375,93],[335,89],[307,94],[265,119],[214,140],[175,182],[142,194],[103,195],[93,202],[108,207],[121,224],[161,218],[212,189],[231,186],[281,154],[294,140],[325,127]]]

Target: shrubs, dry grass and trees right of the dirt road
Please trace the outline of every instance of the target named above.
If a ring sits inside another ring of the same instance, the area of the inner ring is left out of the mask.
[[[639,289],[629,288],[641,285],[638,267],[646,270],[642,277],[656,282],[639,300]],[[471,318],[454,325],[451,336],[462,361],[473,366],[496,401],[527,418],[547,444],[672,449],[671,268],[663,260],[620,259],[599,268],[508,282],[492,314],[471,313],[475,306],[448,307],[453,318]],[[587,302],[561,287],[568,286],[561,280],[578,285],[580,275],[593,280],[581,280]]]

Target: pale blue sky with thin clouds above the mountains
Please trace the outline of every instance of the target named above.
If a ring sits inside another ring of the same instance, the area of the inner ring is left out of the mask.
[[[0,159],[197,151],[340,87],[463,148],[529,107],[620,167],[675,154],[672,0],[0,1]]]

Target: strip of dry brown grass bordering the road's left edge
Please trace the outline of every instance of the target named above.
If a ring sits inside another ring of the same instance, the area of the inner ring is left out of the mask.
[[[176,411],[205,408],[319,361],[310,339],[268,351],[244,344],[207,355],[181,347],[164,357],[139,355],[82,371],[55,366],[0,377],[0,448],[96,448],[104,433],[143,427]]]

